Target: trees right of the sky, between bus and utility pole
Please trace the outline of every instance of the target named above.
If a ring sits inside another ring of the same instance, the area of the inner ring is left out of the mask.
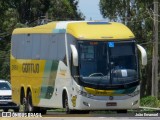
[[[140,74],[141,96],[150,95],[154,42],[153,0],[100,0],[99,6],[104,18],[126,24],[135,34],[137,43],[147,50],[148,64],[146,67],[141,67]]]

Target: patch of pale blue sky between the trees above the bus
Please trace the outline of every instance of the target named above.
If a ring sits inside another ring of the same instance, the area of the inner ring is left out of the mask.
[[[99,10],[100,0],[79,0],[79,9],[86,17],[85,20],[103,20]]]

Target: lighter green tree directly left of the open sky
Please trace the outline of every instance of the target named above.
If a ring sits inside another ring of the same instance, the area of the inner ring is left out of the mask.
[[[78,0],[51,0],[49,14],[53,20],[84,19],[83,14],[78,10]]]

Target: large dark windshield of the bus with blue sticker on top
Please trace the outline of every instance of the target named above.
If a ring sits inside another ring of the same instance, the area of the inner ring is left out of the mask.
[[[124,85],[138,80],[134,41],[79,41],[79,74],[87,86]]]

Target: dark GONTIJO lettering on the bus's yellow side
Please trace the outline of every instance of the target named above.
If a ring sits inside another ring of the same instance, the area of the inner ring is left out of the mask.
[[[23,73],[39,73],[39,64],[36,63],[23,63],[22,64]]]

